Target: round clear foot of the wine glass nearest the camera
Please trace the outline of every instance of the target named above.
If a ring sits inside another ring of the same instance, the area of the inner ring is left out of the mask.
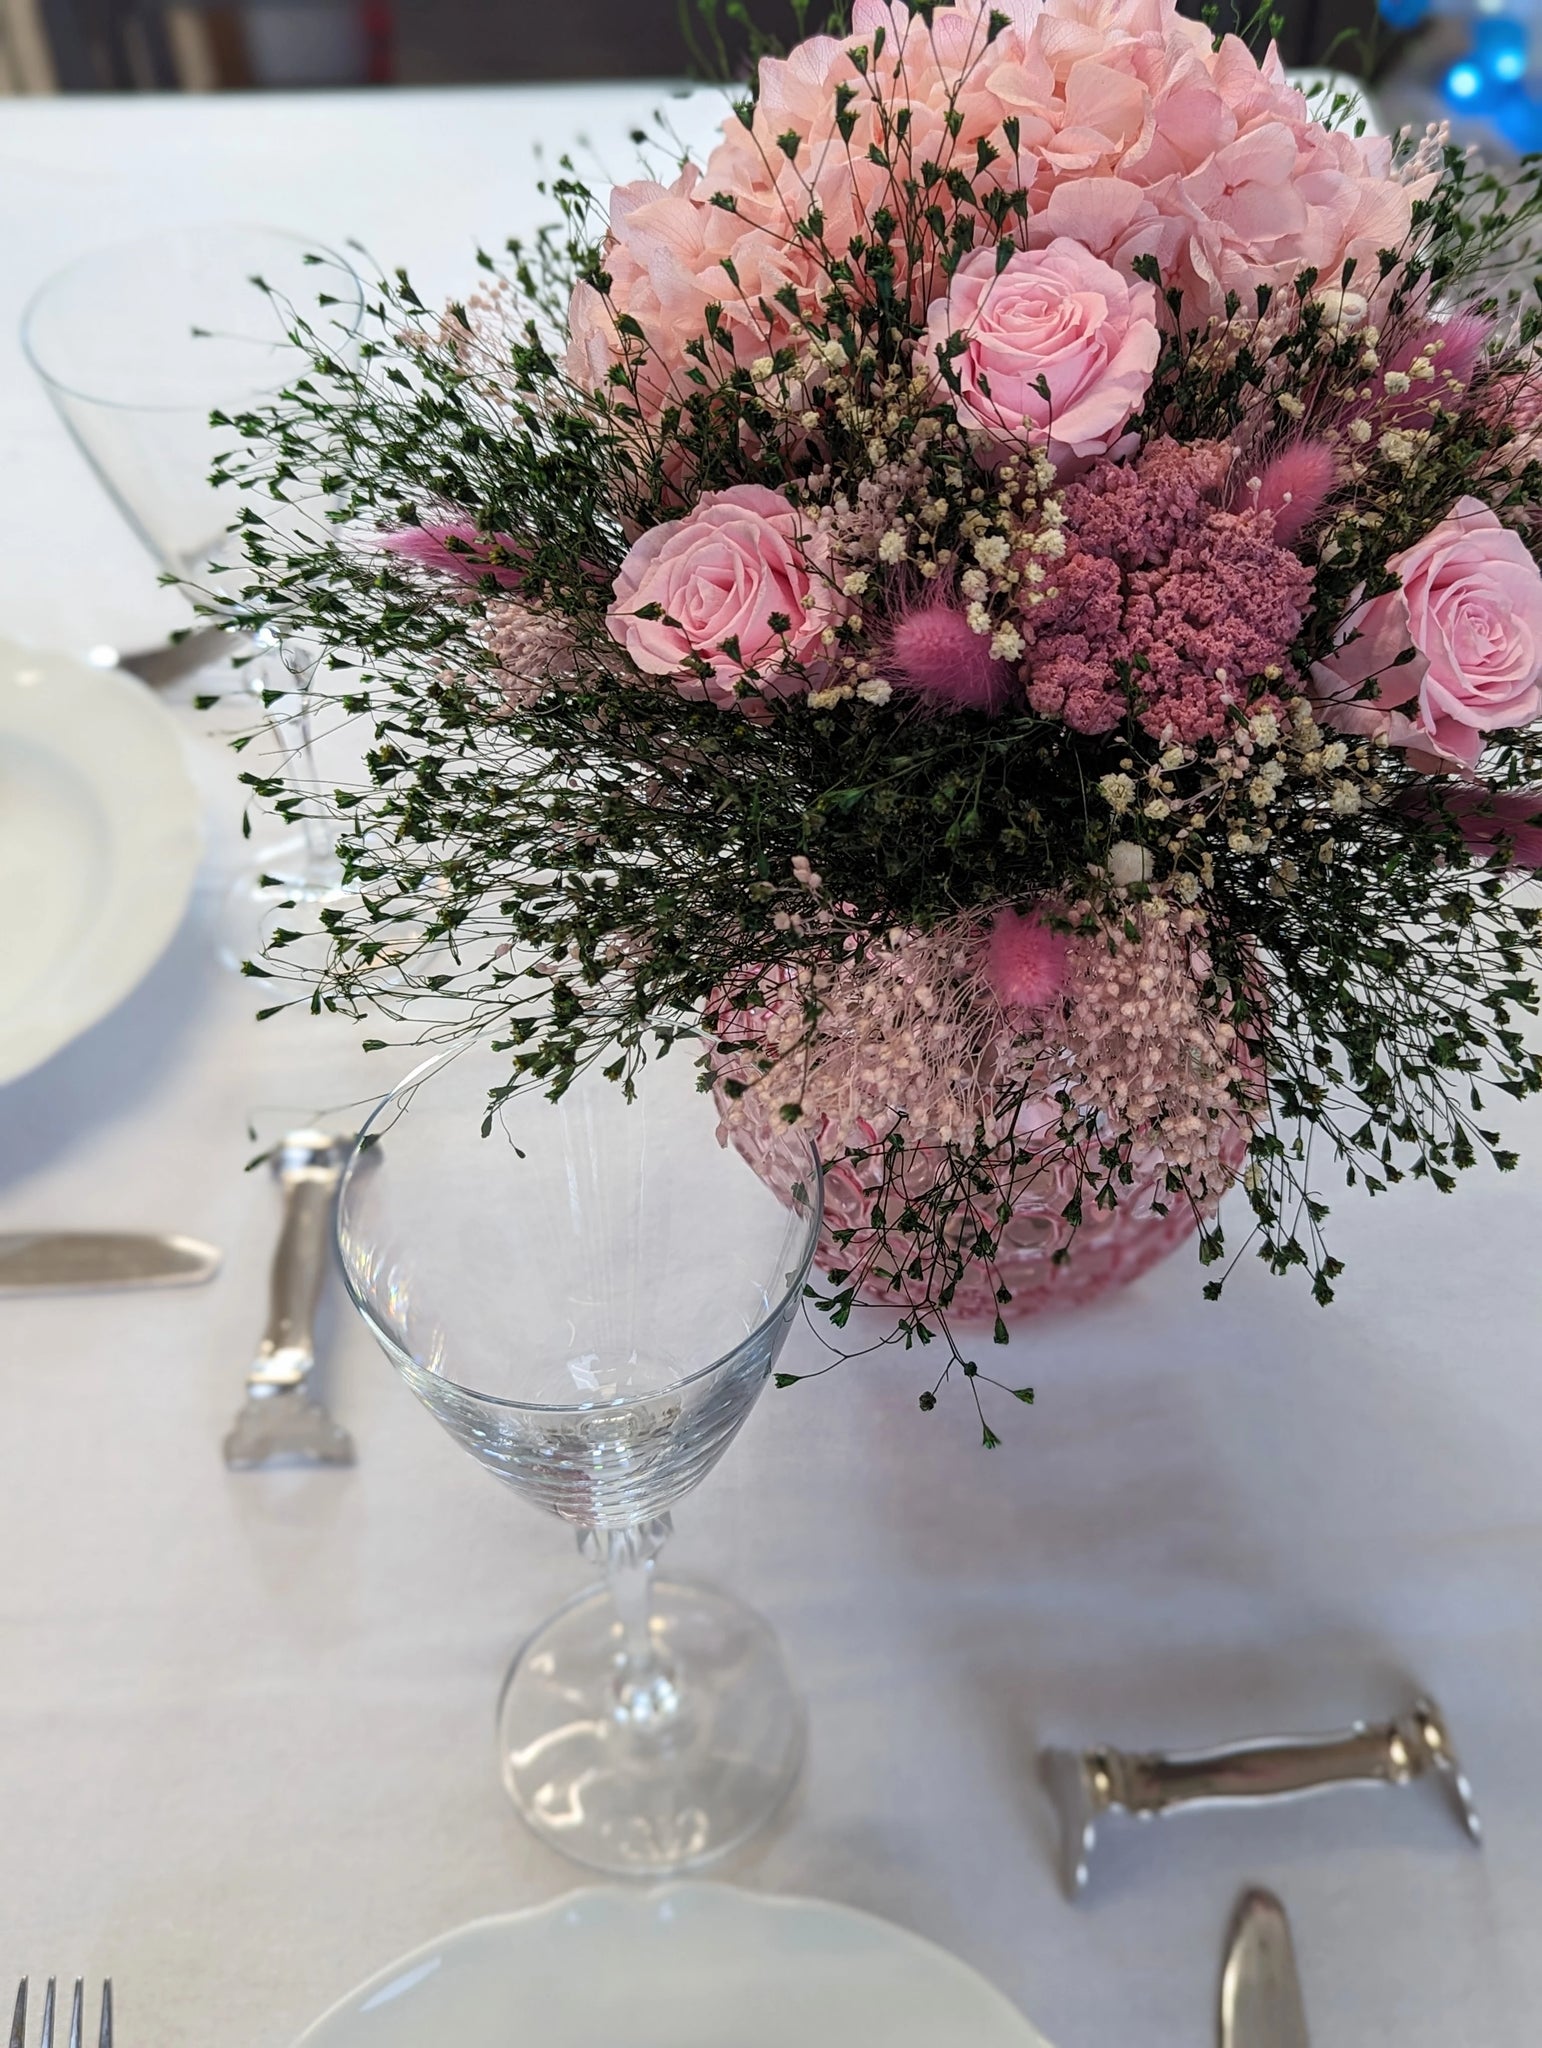
[[[727,1855],[803,1763],[803,1702],[754,1608],[657,1579],[649,1634],[657,1671],[637,1686],[608,1591],[586,1593],[530,1636],[498,1702],[504,1786],[524,1821],[612,1876]]]

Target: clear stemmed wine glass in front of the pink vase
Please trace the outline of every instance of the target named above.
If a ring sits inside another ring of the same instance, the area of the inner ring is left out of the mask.
[[[424,1407],[606,1571],[510,1667],[514,1804],[598,1870],[684,1870],[752,1835],[803,1755],[766,1622],[653,1583],[653,1559],[797,1315],[819,1155],[778,1190],[758,1180],[680,1055],[649,1061],[635,1102],[590,1071],[489,1112],[506,1081],[506,1057],[451,1051],[385,1098],[344,1174],[342,1268]]]

